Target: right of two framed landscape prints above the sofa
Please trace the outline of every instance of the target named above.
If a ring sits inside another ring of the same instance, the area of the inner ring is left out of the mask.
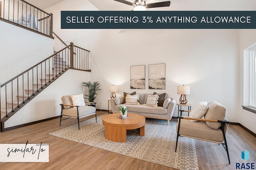
[[[148,65],[148,88],[165,89],[165,64]]]

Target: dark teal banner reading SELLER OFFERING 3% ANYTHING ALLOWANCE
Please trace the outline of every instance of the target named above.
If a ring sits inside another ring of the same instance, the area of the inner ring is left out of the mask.
[[[255,29],[256,11],[61,11],[62,29]]]

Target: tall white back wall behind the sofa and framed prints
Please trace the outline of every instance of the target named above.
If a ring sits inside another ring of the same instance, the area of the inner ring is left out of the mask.
[[[67,5],[68,4],[68,5]],[[79,6],[77,4],[80,4]],[[227,118],[238,122],[239,36],[237,29],[60,29],[61,10],[97,10],[87,0],[66,0],[46,11],[65,42],[90,50],[92,81],[100,82],[98,109],[108,109],[109,85],[125,92],[167,92],[179,99],[178,85],[190,85],[189,103],[218,101]],[[68,36],[66,36],[68,35]],[[148,64],[166,63],[166,89],[148,89]],[[130,66],[146,65],[146,89],[130,89]],[[174,116],[177,116],[175,111]]]

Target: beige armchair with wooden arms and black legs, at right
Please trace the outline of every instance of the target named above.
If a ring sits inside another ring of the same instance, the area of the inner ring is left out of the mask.
[[[222,118],[220,119],[222,120],[213,119],[213,117],[218,117],[218,115],[221,115],[220,117]],[[211,119],[208,119],[208,117]],[[222,144],[226,150],[228,162],[230,164],[228,144],[225,135],[230,121],[226,119],[226,108],[218,102],[210,102],[204,118],[205,119],[178,117],[175,152],[177,150],[179,137],[189,137],[202,141],[218,143],[219,145]],[[190,122],[190,120],[196,120],[196,122]],[[222,143],[223,141],[224,143]]]

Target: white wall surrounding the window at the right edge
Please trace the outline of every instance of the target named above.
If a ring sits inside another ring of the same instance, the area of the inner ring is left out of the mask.
[[[244,49],[256,43],[256,29],[240,29],[240,95],[239,95],[239,123],[256,133],[256,114],[242,109],[242,105],[246,105],[247,98],[244,98]],[[247,95],[248,97],[248,95]],[[244,100],[243,100],[244,99]],[[247,102],[248,106],[248,102]]]

